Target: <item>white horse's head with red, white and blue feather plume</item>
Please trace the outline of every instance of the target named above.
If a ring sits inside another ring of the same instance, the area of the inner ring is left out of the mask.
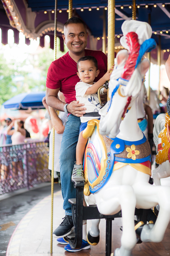
[[[110,101],[99,111],[100,133],[110,138],[118,135],[121,121],[141,91],[143,78],[150,66],[148,59],[141,59],[146,50],[154,47],[148,40],[152,29],[146,22],[125,21],[122,31],[121,43],[128,50],[121,50],[116,56],[117,66],[109,82]]]

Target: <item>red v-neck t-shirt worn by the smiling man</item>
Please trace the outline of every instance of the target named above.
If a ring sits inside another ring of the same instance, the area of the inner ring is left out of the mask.
[[[85,49],[85,56],[91,55],[97,59],[100,71],[94,82],[97,82],[107,72],[107,56],[102,51]],[[75,85],[80,79],[77,75],[77,63],[69,56],[69,52],[53,61],[48,69],[46,87],[60,88],[65,96],[66,103],[76,100]]]

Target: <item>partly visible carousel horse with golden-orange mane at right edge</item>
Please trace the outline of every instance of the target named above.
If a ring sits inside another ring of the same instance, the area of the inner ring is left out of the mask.
[[[163,128],[164,127],[164,128]],[[169,114],[160,114],[154,124],[154,143],[156,145],[156,163],[158,168],[153,170],[155,185],[161,185],[160,179],[170,176],[170,118]]]

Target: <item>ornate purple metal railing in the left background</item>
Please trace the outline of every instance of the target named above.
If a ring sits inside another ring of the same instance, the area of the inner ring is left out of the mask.
[[[0,195],[50,181],[48,153],[43,141],[0,146]]]

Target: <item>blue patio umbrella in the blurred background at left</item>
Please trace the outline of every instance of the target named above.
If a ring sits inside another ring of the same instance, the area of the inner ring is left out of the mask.
[[[44,108],[42,98],[45,92],[20,93],[2,104],[5,109],[28,109],[28,108]]]

